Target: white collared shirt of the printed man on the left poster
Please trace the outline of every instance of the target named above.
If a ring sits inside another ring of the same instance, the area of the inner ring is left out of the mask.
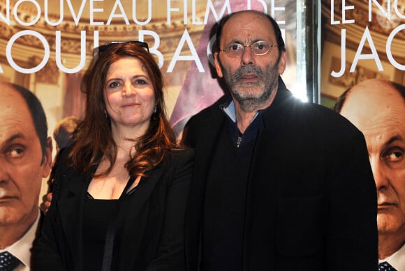
[[[10,247],[0,250],[0,252],[8,251],[22,262],[17,266],[17,268],[15,268],[14,271],[31,270],[31,248],[36,238],[36,230],[38,228],[39,218],[40,214],[38,212],[38,217],[36,217],[34,224],[31,225],[27,233],[25,233],[22,238],[20,238],[20,240],[15,242],[13,245],[10,245]]]

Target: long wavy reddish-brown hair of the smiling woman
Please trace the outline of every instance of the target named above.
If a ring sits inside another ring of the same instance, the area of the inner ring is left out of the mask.
[[[128,56],[135,57],[143,63],[152,81],[156,98],[156,113],[151,117],[147,132],[142,137],[128,139],[134,142],[135,148],[135,155],[126,163],[129,175],[131,177],[143,175],[156,167],[168,150],[176,148],[175,134],[165,113],[163,76],[159,66],[152,54],[144,48],[131,42],[117,43],[106,47],[93,59],[83,78],[82,91],[87,93],[85,116],[78,125],[69,155],[73,167],[80,172],[86,173],[92,166],[97,165],[101,155],[110,161],[110,167],[98,176],[110,173],[115,164],[117,144],[112,139],[110,118],[106,118],[103,91],[110,65]]]

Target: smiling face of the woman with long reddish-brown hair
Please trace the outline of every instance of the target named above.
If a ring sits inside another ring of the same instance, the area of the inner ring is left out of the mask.
[[[105,77],[105,107],[112,129],[136,128],[145,134],[156,107],[151,79],[135,57],[125,57],[110,65]]]

